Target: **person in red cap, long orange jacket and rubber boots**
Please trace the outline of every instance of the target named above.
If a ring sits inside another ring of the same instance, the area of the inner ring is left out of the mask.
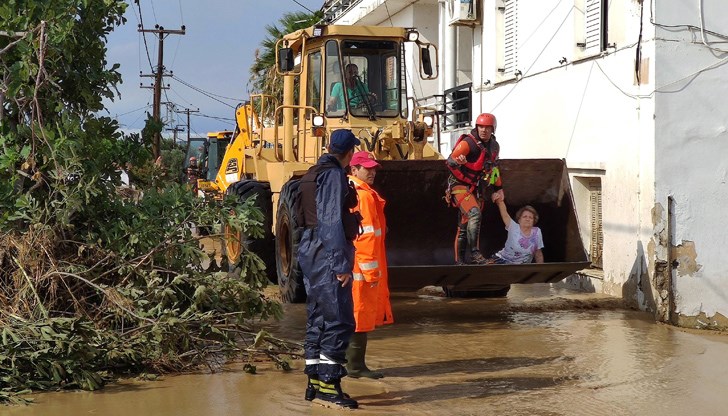
[[[354,240],[356,248],[354,284],[354,319],[356,331],[346,350],[346,371],[349,377],[382,378],[384,374],[371,371],[365,363],[367,333],[374,327],[394,322],[392,305],[389,302],[387,282],[387,257],[384,237],[387,222],[384,218],[384,199],[372,189],[379,163],[367,152],[357,152],[351,159],[351,175],[362,216],[361,235]]]

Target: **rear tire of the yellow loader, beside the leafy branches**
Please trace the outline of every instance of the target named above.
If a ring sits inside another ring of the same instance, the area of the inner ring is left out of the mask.
[[[235,197],[241,203],[256,195],[255,206],[261,210],[263,218],[263,237],[246,238],[241,232],[224,227],[223,238],[225,254],[229,265],[229,272],[239,273],[240,259],[243,250],[249,250],[260,257],[265,264],[265,274],[268,280],[277,283],[275,261],[275,237],[273,236],[273,194],[270,184],[254,180],[242,180],[230,186],[227,194]]]

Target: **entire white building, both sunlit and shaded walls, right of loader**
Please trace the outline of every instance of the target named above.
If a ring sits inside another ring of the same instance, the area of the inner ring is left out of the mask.
[[[384,2],[362,3],[367,1]],[[660,320],[728,316],[728,233],[722,226],[728,55],[718,50],[728,50],[728,33],[700,30],[728,32],[728,2],[604,0],[609,46],[590,55],[577,45],[585,37],[588,1],[518,0],[518,76],[498,71],[504,0],[479,2],[480,23],[457,28],[469,33],[458,37],[457,50],[472,51],[472,66],[460,67],[458,60],[456,70],[459,84],[473,82],[473,118],[497,116],[503,158],[566,159],[587,248],[583,179],[601,180],[604,273],[592,287],[652,310]],[[428,40],[442,41],[448,30],[444,4],[437,7],[437,30],[431,1],[404,8],[412,19],[395,24],[424,25]],[[389,20],[380,16],[376,24]],[[441,60],[441,79],[448,70]],[[671,308],[680,316],[670,316]]]

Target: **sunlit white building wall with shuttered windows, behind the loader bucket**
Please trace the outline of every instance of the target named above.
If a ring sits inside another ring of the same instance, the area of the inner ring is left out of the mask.
[[[638,95],[650,90],[652,80],[634,85],[635,47],[626,46],[636,43],[639,33],[615,34],[625,46],[583,59],[576,47],[583,35],[575,23],[575,2],[518,3],[516,67],[521,75],[514,79],[499,75],[498,52],[493,53],[502,41],[493,29],[502,3],[484,2],[484,22],[492,24],[482,27],[483,73],[489,74],[491,84],[484,83],[475,94],[474,113],[497,116],[502,158],[564,158],[574,189],[579,188],[579,177],[601,179],[604,281],[599,286],[648,307],[653,291],[649,281],[640,285],[640,280],[648,272],[654,191],[642,184],[655,182],[653,98]],[[639,27],[639,13],[629,7],[613,6],[609,17],[610,40],[613,27]],[[651,55],[652,38],[643,32],[643,56]],[[588,198],[586,192],[575,194]],[[588,200],[575,202],[580,223],[588,223]],[[582,236],[588,248],[590,234]],[[646,287],[638,289],[641,286]]]

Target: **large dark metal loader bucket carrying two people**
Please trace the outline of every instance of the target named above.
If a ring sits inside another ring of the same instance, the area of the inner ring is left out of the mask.
[[[444,200],[449,171],[443,160],[381,161],[375,188],[387,200],[387,260],[393,290],[423,286],[492,288],[512,283],[564,279],[589,266],[566,163],[561,159],[500,161],[506,205],[511,217],[523,205],[539,214],[544,264],[455,266],[454,241],[459,212]],[[486,195],[480,248],[488,257],[501,248],[507,232]]]

